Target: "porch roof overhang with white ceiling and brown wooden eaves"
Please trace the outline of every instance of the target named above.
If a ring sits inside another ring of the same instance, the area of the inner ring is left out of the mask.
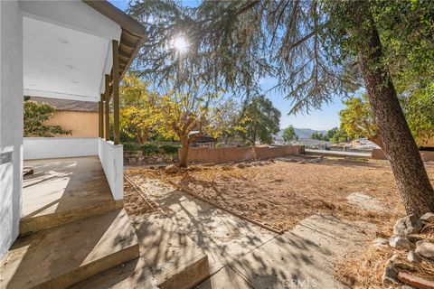
[[[145,42],[145,27],[107,1],[21,1],[24,94],[98,101],[112,76],[119,42],[119,79]]]

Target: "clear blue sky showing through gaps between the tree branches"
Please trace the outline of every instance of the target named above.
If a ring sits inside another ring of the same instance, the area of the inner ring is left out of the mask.
[[[127,9],[127,0],[109,0],[113,5],[116,5],[121,10]],[[199,0],[184,0],[183,4],[188,6],[197,6]],[[271,87],[272,79],[262,81],[262,89],[264,91]],[[296,116],[288,116],[291,108],[291,101],[285,99],[281,94],[275,91],[265,93],[266,96],[273,102],[275,107],[278,107],[282,113],[280,118],[280,127],[285,128],[289,125],[297,128],[312,128],[317,130],[327,130],[335,126],[339,126],[339,110],[344,108],[340,98],[333,98],[333,102],[325,104],[321,110],[314,110],[307,114],[297,114]]]

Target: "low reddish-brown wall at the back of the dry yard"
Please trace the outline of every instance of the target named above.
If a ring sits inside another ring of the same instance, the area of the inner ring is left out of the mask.
[[[257,146],[256,157],[264,160],[272,157],[288,154],[302,154],[304,147],[301,145],[286,146]],[[255,159],[252,147],[191,147],[188,151],[188,163],[237,163],[249,162]]]

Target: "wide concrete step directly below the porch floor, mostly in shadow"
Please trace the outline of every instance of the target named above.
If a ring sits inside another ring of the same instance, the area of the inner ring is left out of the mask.
[[[18,238],[0,266],[1,288],[66,288],[139,256],[125,210]]]

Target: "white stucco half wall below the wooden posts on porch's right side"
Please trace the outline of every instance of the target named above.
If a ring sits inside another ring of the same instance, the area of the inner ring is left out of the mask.
[[[124,197],[124,148],[122,144],[113,144],[99,138],[99,160],[106,173],[111,193],[115,200]]]

